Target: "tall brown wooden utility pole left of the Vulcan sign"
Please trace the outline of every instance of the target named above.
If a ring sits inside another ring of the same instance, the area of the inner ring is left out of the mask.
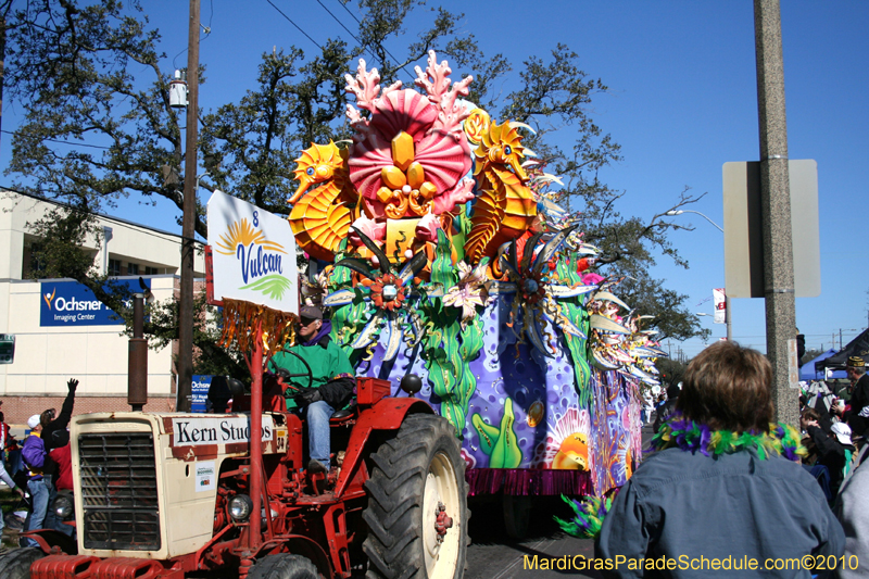
[[[184,155],[181,295],[178,300],[178,390],[175,408],[190,412],[193,392],[193,251],[197,219],[197,140],[199,137],[199,0],[190,0],[187,48],[187,146]]]

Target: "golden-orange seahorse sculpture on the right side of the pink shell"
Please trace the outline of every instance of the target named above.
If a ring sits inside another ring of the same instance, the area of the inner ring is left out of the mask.
[[[465,259],[478,263],[525,234],[537,216],[537,202],[521,167],[521,137],[508,123],[492,123],[483,129],[474,156],[477,200]]]

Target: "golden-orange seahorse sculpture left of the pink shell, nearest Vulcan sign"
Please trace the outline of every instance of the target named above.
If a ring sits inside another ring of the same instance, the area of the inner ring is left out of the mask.
[[[314,144],[295,160],[299,189],[288,200],[292,205],[290,227],[308,255],[332,261],[338,244],[348,236],[358,194],[350,182],[348,151],[335,142]],[[319,185],[315,189],[312,186]]]

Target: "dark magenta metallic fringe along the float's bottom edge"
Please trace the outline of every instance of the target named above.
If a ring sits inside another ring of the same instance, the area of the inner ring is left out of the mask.
[[[529,468],[469,468],[465,471],[468,495],[495,494],[593,494],[591,474],[584,470]]]

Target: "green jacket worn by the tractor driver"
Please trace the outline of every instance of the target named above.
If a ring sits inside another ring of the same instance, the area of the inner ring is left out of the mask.
[[[319,339],[311,345],[292,345],[285,348],[285,350],[298,353],[307,362],[308,366],[311,366],[311,373],[313,375],[311,386],[313,388],[319,388],[342,374],[355,376],[355,370],[350,364],[347,354],[344,354],[344,351],[341,350],[338,344],[331,341],[328,333],[319,337]],[[290,378],[286,383],[302,389],[307,388],[307,368],[302,361],[294,355],[286,352],[278,352],[272,357],[269,366],[273,370],[285,368],[290,374],[305,375],[300,378]],[[298,404],[295,404],[294,400],[287,399],[287,410],[292,410],[297,406]]]

